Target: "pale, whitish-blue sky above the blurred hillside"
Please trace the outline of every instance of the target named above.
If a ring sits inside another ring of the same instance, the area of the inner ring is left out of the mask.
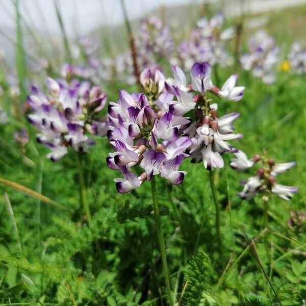
[[[141,17],[152,9],[188,3],[202,3],[203,0],[125,0],[129,18]],[[123,21],[120,0],[59,0],[68,35],[75,27],[86,34],[99,24],[116,24]],[[21,14],[31,28],[48,33],[60,33],[53,0],[20,0]],[[79,20],[79,21],[78,21]],[[79,25],[78,25],[79,24]],[[81,25],[80,25],[81,24]],[[0,28],[15,28],[14,0],[0,0]]]

